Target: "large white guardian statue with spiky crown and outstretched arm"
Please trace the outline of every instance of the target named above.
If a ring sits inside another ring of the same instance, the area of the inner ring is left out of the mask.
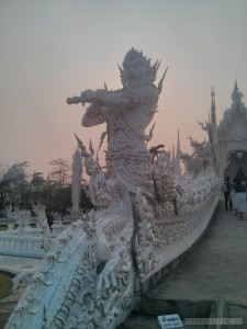
[[[115,91],[85,90],[80,97],[69,98],[68,104],[89,103],[82,125],[91,127],[106,123],[108,151],[106,175],[117,178],[128,191],[136,194],[138,188],[154,193],[151,157],[146,141],[145,128],[151,122],[166,71],[154,84],[160,63],[150,65],[150,59],[132,48],[120,67],[123,88]]]

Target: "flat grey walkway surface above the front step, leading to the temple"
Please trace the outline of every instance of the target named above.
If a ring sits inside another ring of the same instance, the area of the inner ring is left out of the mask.
[[[201,243],[148,296],[212,300],[247,307],[247,215],[220,211]],[[247,327],[246,327],[247,328]]]

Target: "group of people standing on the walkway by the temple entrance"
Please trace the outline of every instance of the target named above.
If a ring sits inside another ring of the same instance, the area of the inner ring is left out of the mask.
[[[247,181],[234,179],[231,183],[229,177],[226,177],[224,186],[225,209],[234,209],[234,215],[239,215],[239,218],[243,219],[244,214],[247,213]]]

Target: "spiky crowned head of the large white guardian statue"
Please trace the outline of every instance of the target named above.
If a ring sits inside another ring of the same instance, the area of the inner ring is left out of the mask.
[[[144,87],[153,84],[160,61],[153,66],[150,59],[147,59],[142,52],[132,48],[127,52],[120,68],[121,81],[124,88]]]

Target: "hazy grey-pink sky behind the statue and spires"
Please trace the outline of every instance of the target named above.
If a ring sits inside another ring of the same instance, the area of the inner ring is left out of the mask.
[[[135,47],[167,66],[149,146],[171,149],[180,131],[203,140],[210,89],[217,120],[237,78],[247,94],[246,0],[0,0],[0,163],[71,161],[74,133],[98,148],[104,126],[81,126],[82,106],[66,99],[85,89],[121,88],[117,64]]]

